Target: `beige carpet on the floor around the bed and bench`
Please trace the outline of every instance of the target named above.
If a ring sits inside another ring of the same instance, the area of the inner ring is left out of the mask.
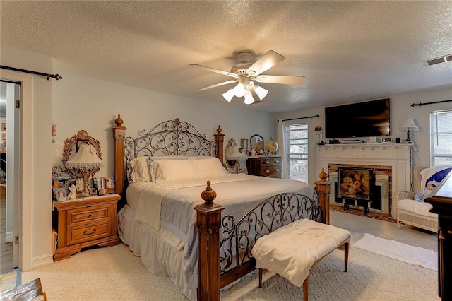
[[[352,243],[362,234],[352,233]],[[23,272],[22,282],[41,278],[47,300],[186,300],[167,277],[146,270],[129,247],[90,249],[53,265]],[[302,288],[272,272],[246,276],[221,294],[222,300],[302,300]],[[437,273],[362,249],[335,250],[312,268],[309,300],[441,300]]]

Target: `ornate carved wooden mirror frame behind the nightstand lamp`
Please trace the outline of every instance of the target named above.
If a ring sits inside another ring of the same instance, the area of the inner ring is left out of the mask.
[[[69,158],[71,158],[72,152],[75,151],[78,152],[78,148],[80,148],[81,144],[88,143],[94,146],[94,148],[97,151],[97,155],[99,158],[102,159],[102,153],[100,151],[100,143],[97,139],[91,137],[88,135],[88,133],[85,130],[80,130],[78,133],[71,138],[67,138],[64,141],[64,147],[63,147],[63,166],[66,169],[66,172],[71,175],[74,179],[83,177],[82,170],[72,170],[71,168],[66,167],[66,162],[69,161]],[[93,177],[96,172],[100,170],[100,167],[97,167],[90,172],[90,177]]]

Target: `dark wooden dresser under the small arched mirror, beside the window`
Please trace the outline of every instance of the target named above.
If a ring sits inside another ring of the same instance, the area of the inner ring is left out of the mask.
[[[248,160],[246,160],[248,174],[261,177],[277,177],[280,179],[281,161],[280,155],[248,157]]]

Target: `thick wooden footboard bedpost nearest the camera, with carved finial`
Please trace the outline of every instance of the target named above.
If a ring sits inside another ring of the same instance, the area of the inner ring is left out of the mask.
[[[222,152],[220,152],[222,153]],[[207,182],[201,193],[204,203],[196,205],[199,254],[198,300],[220,300],[220,228],[223,206],[213,203],[217,194]]]

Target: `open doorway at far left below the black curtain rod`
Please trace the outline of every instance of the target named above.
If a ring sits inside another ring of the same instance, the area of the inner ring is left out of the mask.
[[[18,267],[20,82],[0,80],[0,273]]]

